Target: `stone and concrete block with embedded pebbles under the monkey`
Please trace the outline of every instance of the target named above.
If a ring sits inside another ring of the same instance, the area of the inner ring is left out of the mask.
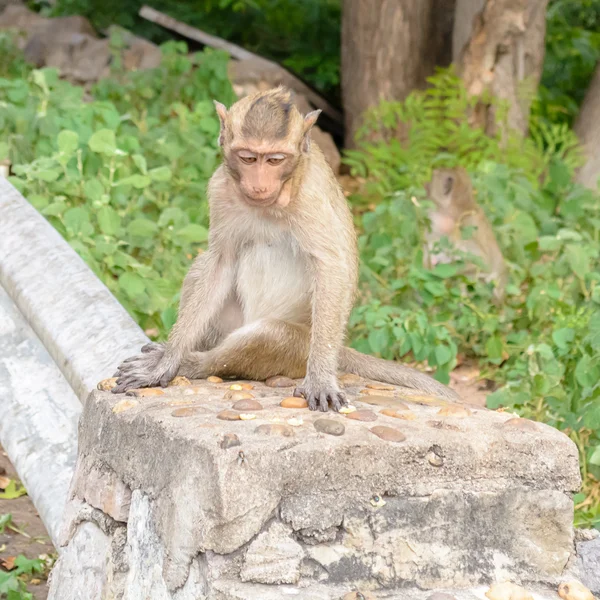
[[[558,584],[575,563],[580,484],[565,435],[345,382],[348,415],[283,408],[292,387],[262,383],[92,393],[50,600]]]

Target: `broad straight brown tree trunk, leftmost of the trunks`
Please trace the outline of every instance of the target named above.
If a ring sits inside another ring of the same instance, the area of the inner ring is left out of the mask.
[[[365,110],[403,100],[449,64],[456,0],[344,0],[342,97],[346,145]]]

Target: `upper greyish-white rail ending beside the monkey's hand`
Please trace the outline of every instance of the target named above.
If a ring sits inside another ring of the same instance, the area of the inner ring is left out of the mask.
[[[71,246],[3,178],[0,215],[0,285],[83,401],[148,338]]]

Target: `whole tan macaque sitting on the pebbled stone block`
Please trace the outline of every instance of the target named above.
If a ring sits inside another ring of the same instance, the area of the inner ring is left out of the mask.
[[[357,284],[352,215],[285,88],[215,102],[223,162],[208,186],[208,250],[183,283],[166,344],[124,361],[113,392],[175,375],[304,378],[309,408],[346,404],[338,370],[457,399],[433,378],[343,346]]]

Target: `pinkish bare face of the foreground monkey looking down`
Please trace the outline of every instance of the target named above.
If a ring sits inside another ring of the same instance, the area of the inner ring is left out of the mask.
[[[297,156],[276,147],[268,151],[247,145],[232,149],[227,164],[248,204],[272,206],[298,162]]]

